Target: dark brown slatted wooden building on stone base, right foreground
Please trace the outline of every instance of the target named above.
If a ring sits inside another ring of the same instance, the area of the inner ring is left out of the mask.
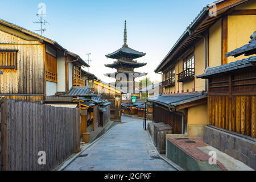
[[[204,142],[256,169],[256,31],[249,44],[227,57],[254,55],[209,68],[208,126]],[[233,152],[236,151],[236,152]]]

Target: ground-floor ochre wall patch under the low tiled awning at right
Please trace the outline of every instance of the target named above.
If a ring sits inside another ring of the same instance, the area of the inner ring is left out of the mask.
[[[203,137],[207,121],[207,104],[188,108],[187,131],[189,137]]]

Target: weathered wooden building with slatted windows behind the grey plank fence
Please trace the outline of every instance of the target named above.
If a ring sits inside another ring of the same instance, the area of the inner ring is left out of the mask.
[[[0,97],[40,102],[84,86],[78,55],[57,42],[0,19]]]

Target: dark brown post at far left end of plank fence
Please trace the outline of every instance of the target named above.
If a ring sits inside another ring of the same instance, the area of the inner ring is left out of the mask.
[[[3,100],[1,102],[1,171],[8,170],[8,133],[7,133],[7,126],[8,126],[8,116],[7,116],[7,100]]]

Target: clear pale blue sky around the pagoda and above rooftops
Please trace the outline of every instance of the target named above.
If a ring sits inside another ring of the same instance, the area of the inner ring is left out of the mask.
[[[104,76],[115,72],[104,64],[112,63],[105,55],[123,45],[124,21],[127,20],[127,44],[147,55],[138,59],[146,62],[135,71],[147,72],[151,80],[161,80],[154,69],[167,55],[185,28],[210,0],[137,0],[137,1],[60,1],[60,0],[0,0],[0,18],[34,31],[39,24],[38,4],[46,4],[44,36],[53,39],[69,51],[86,60],[92,53],[90,72],[101,80],[113,81]]]

